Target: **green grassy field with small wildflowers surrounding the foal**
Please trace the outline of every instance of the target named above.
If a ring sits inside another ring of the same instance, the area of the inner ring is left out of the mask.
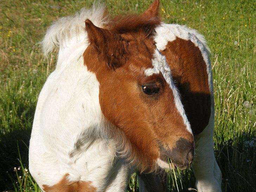
[[[57,53],[47,60],[37,43],[52,21],[92,3],[0,1],[1,191],[40,191],[27,171],[27,146],[37,97],[55,68]],[[105,4],[115,15],[141,13],[150,2],[109,0]],[[223,191],[256,191],[256,1],[162,0],[160,9],[165,22],[204,34],[212,51],[215,156],[223,174]],[[177,183],[173,174],[168,176],[168,191],[195,188],[191,169],[178,175]],[[128,191],[135,189],[133,175]]]

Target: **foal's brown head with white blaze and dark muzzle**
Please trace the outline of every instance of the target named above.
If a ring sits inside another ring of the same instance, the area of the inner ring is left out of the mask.
[[[194,140],[171,70],[156,49],[159,0],[141,15],[116,17],[104,29],[85,21],[84,64],[100,84],[104,117],[122,130],[141,168],[187,167]],[[115,134],[115,133],[113,133]]]

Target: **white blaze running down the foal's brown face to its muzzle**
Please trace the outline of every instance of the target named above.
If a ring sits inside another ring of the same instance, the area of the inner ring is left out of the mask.
[[[172,89],[175,106],[176,106],[177,110],[179,111],[181,117],[183,118],[183,122],[184,122],[188,132],[190,132],[192,134],[190,123],[188,122],[183,104],[181,103],[181,100],[180,100],[179,92],[178,92],[176,86],[173,83],[171,69],[170,69],[170,67],[169,67],[169,65],[166,61],[165,56],[163,56],[158,51],[158,49],[155,49],[154,59],[152,59],[152,65],[153,65],[153,68],[146,69],[145,74],[147,76],[150,76],[150,75],[153,75],[154,73],[159,73],[159,72],[162,73],[162,75],[165,78],[165,81],[167,82],[167,84]]]

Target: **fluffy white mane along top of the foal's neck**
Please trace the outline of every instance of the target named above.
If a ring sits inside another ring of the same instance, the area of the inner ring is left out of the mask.
[[[85,34],[86,19],[92,21],[97,27],[102,27],[109,22],[109,18],[104,15],[105,6],[94,3],[90,9],[82,8],[73,16],[63,17],[55,21],[47,30],[43,41],[43,51],[45,55],[59,47],[72,37],[78,36],[79,33]],[[86,36],[84,36],[86,37]]]

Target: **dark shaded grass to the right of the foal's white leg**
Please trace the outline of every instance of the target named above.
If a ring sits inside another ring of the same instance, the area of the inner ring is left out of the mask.
[[[222,189],[256,191],[256,135],[243,132],[228,141],[219,139],[215,156],[222,171]]]

